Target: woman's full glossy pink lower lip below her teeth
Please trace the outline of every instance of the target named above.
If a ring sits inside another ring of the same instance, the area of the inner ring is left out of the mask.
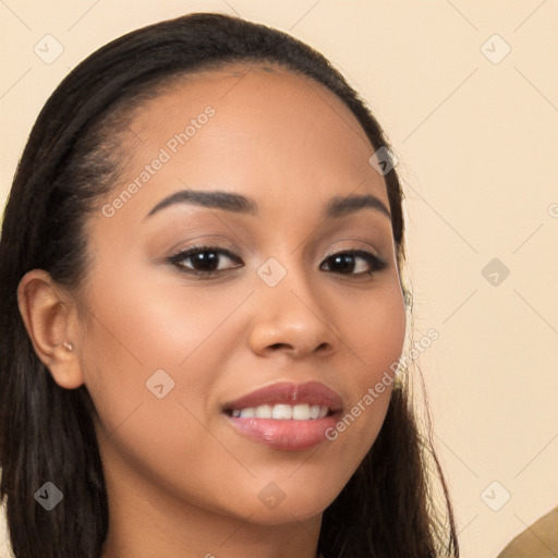
[[[325,441],[325,432],[335,427],[336,415],[307,421],[228,416],[240,434],[282,451],[302,451]]]

